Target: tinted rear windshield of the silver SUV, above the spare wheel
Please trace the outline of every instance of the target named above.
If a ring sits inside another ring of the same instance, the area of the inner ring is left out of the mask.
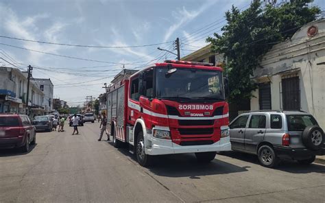
[[[303,131],[307,126],[318,126],[317,121],[311,115],[287,115],[289,131]]]

